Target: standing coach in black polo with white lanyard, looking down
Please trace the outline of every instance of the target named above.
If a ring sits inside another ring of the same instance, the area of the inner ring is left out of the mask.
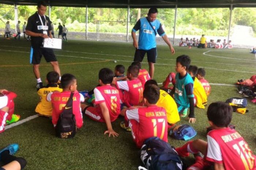
[[[40,78],[39,64],[42,55],[45,57],[47,62],[52,64],[53,70],[59,73],[60,68],[56,56],[52,49],[43,48],[44,38],[52,38],[52,27],[50,24],[50,19],[45,16],[47,9],[47,4],[45,1],[39,1],[37,3],[37,12],[31,15],[27,20],[26,34],[31,36],[31,54],[30,62],[33,64],[33,71],[35,78],[37,79],[37,88],[43,86],[42,80]]]

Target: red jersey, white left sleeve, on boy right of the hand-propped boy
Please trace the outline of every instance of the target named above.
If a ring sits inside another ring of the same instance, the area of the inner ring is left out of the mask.
[[[118,89],[124,90],[123,103],[127,107],[142,105],[143,87],[139,79],[117,82]]]

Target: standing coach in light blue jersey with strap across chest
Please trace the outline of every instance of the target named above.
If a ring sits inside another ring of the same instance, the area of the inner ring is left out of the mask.
[[[169,46],[172,54],[175,50],[170,43],[162,24],[157,20],[157,8],[150,8],[147,17],[140,18],[132,29],[133,46],[136,48],[134,61],[142,62],[147,53],[147,61],[149,65],[149,75],[151,79],[154,77],[154,63],[157,59],[157,33],[163,38]],[[136,40],[136,31],[139,30],[139,42]]]

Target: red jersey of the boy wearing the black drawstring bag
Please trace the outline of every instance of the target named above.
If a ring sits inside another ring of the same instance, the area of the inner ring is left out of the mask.
[[[47,95],[47,101],[52,101],[52,123],[55,126],[59,120],[60,114],[65,109],[67,105],[68,99],[70,97],[70,91],[63,92],[50,92]],[[84,97],[82,94],[79,94],[77,91],[74,92],[73,96],[73,114],[76,119],[76,126],[81,128],[83,125],[83,115],[81,112],[80,102],[84,101]]]

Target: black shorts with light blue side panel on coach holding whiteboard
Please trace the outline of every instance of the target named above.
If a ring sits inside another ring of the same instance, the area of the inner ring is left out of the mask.
[[[40,64],[42,55],[45,57],[46,62],[57,61],[57,58],[50,48],[33,48],[33,54],[30,53],[31,64]]]

